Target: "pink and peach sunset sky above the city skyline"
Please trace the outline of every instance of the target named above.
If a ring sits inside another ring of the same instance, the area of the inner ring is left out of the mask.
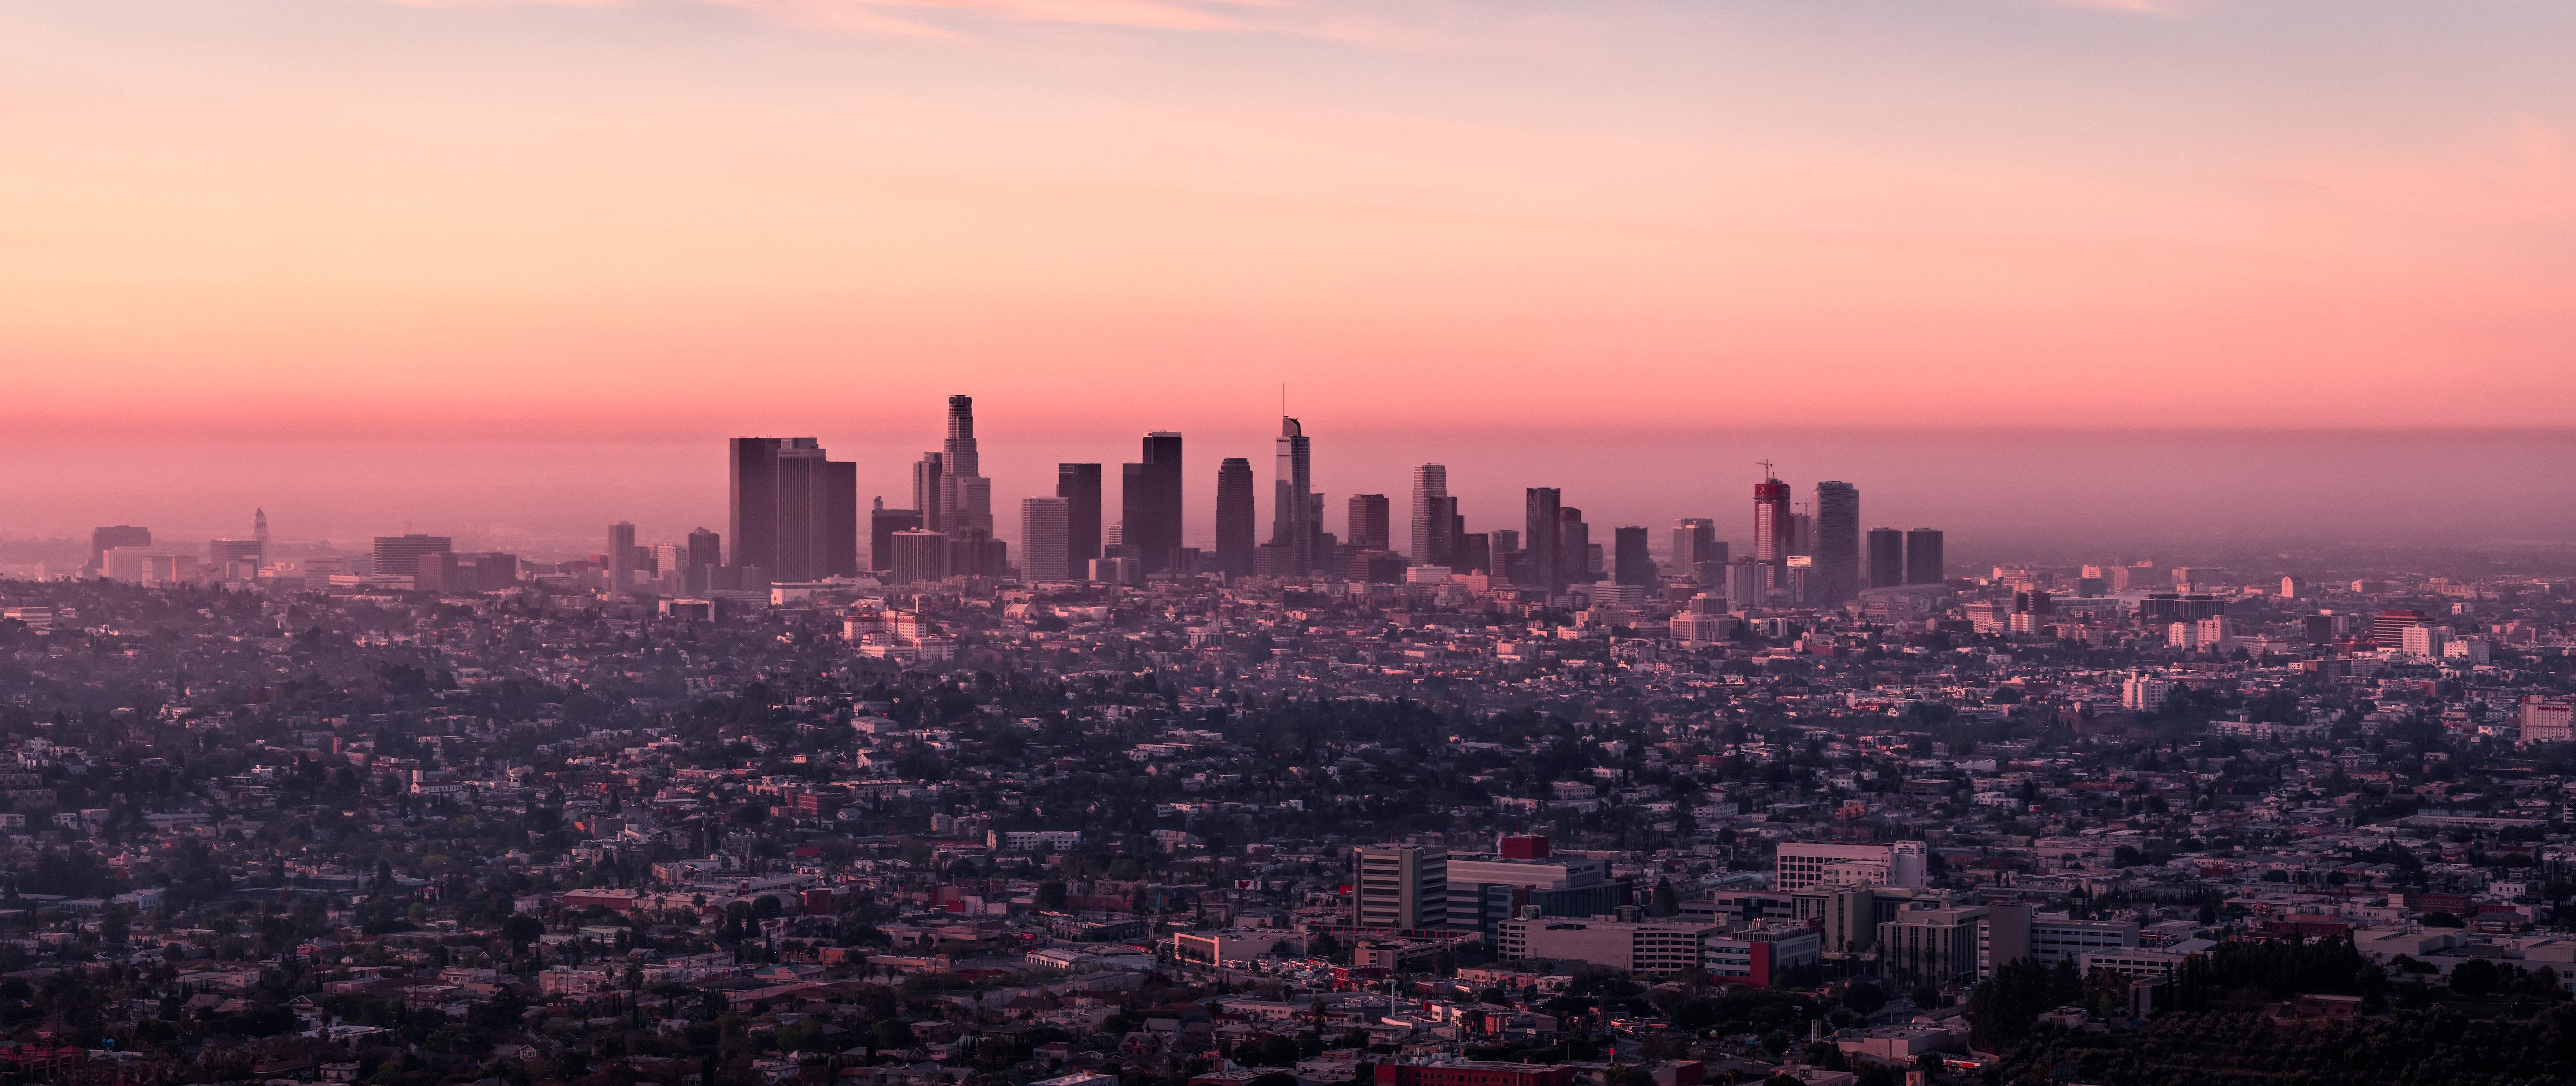
[[[2558,0],[0,0],[0,535],[716,520],[734,432],[891,494],[956,391],[1030,476],[1267,476],[1285,386],[1334,494],[1445,448],[1641,522],[1772,450],[1891,515],[1958,448],[2159,515],[2264,463],[2195,432],[2494,471],[2439,435],[2576,399],[2571,54]],[[2012,453],[2105,430],[2166,437]],[[2548,528],[2563,450],[2463,515]]]

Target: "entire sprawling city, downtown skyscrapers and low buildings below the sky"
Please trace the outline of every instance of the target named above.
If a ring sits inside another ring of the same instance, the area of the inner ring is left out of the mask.
[[[724,456],[667,543],[0,582],[0,1076],[2576,1073],[2576,574],[1963,571],[1770,466],[1744,553],[1437,463],[1334,535],[1296,419],[1260,540],[1154,432],[1005,543],[966,396],[902,510]]]

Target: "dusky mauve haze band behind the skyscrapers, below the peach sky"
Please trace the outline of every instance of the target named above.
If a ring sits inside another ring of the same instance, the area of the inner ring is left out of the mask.
[[[1007,396],[1005,396],[1007,401]],[[1133,435],[1018,435],[979,407],[984,474],[999,535],[1018,546],[1023,497],[1054,494],[1061,461],[1105,463],[1105,517],[1118,517],[1118,463]],[[884,409],[873,435],[775,427],[855,461],[860,504],[909,507],[909,463],[938,448],[940,401]],[[1012,412],[994,412],[1010,417]],[[902,425],[894,425],[902,422]],[[1674,517],[1716,517],[1744,546],[1754,461],[1777,461],[1808,502],[1819,479],[1860,486],[1865,528],[1940,528],[1955,556],[2066,551],[2102,561],[2226,543],[2494,546],[2576,538],[2576,430],[2555,432],[1455,432],[1337,430],[1306,414],[1327,528],[1350,494],[1386,494],[1401,525],[1412,463],[1448,463],[1468,530],[1517,528],[1525,486],[1558,486],[1595,535]],[[1255,466],[1267,533],[1270,432],[1185,430],[1185,535],[1208,546],[1224,456]],[[242,535],[265,507],[281,540],[363,546],[422,530],[495,546],[598,546],[631,520],[644,540],[726,530],[721,437],[350,443],[170,440],[0,443],[18,463],[0,535],[85,538],[137,522],[193,543]],[[587,540],[587,543],[585,543]]]

